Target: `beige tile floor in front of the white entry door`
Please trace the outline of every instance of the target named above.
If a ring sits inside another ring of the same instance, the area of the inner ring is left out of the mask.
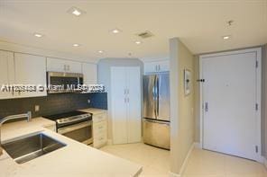
[[[267,171],[253,161],[194,149],[183,177],[267,177]]]

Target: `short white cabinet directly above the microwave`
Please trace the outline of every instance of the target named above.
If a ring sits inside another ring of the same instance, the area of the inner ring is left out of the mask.
[[[82,73],[80,62],[60,58],[47,58],[47,71]]]

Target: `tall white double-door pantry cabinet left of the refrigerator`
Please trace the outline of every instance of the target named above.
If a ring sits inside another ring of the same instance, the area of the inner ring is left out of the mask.
[[[141,141],[140,67],[111,67],[111,115],[114,144]]]

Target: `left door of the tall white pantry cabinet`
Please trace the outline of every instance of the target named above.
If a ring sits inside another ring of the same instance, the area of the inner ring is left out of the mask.
[[[125,68],[111,67],[111,111],[113,143],[127,143],[127,107],[125,99]]]

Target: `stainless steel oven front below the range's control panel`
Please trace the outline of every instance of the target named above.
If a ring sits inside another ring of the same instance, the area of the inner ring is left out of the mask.
[[[92,129],[92,120],[89,120],[67,127],[58,128],[58,133],[89,145],[93,143]]]

